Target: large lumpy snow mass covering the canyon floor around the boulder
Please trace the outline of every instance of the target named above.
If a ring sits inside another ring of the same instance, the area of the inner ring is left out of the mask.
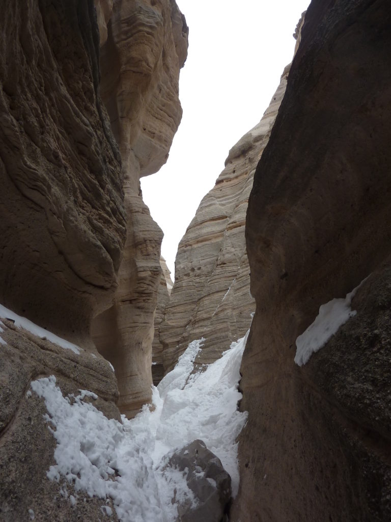
[[[47,477],[68,480],[90,496],[111,498],[123,522],[173,522],[178,515],[174,490],[177,501],[196,501],[186,473],[165,465],[175,449],[200,438],[221,459],[236,495],[236,438],[247,419],[237,410],[237,388],[247,335],[195,374],[193,362],[203,339],[190,343],[175,369],[153,387],[154,410],[144,406],[135,419],[123,417],[124,424],[83,402],[94,394],[80,390],[77,397],[63,397],[54,376],[32,382],[33,391],[45,399],[46,420],[57,441],[56,464]]]

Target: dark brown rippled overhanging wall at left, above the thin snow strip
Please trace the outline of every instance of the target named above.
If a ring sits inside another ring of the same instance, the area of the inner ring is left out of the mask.
[[[0,302],[89,343],[125,240],[89,2],[10,2],[0,36]]]

